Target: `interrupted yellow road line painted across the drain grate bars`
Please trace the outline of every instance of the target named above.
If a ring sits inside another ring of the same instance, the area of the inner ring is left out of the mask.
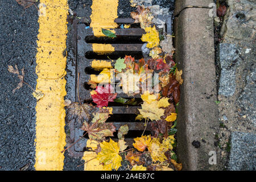
[[[101,28],[118,27],[118,24],[114,22],[114,20],[118,18],[117,7],[118,0],[93,0],[91,6],[92,15],[90,15],[92,22],[90,23],[90,27],[93,29],[94,36],[105,36],[102,34]],[[109,53],[114,51],[114,47],[111,44],[92,44],[92,48],[94,52],[98,53]],[[97,68],[98,63],[98,61],[94,60],[92,66]],[[106,65],[105,68],[111,67],[111,63],[102,62],[101,65],[98,65],[98,68],[102,68],[102,65]],[[88,140],[88,142],[88,146],[97,148],[97,145],[93,144],[93,142],[90,142],[90,140]],[[84,165],[85,171],[111,170],[110,166],[106,165],[103,167],[97,159],[93,159],[95,156],[97,156],[96,152],[84,152],[82,159],[86,162]]]

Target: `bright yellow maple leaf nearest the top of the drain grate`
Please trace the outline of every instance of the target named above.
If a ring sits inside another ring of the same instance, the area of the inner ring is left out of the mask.
[[[147,48],[153,48],[159,46],[159,33],[154,27],[146,27],[146,34],[142,35],[141,40],[147,42]]]

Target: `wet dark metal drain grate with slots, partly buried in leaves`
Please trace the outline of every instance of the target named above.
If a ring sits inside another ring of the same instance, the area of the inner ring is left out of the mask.
[[[171,34],[171,16],[160,16],[164,22],[166,22],[166,32]],[[118,24],[131,24],[134,23],[133,19],[115,19],[115,23]],[[119,57],[123,58],[125,55],[131,55],[135,59],[141,59],[142,51],[141,47],[143,42],[141,42],[141,36],[144,33],[144,30],[139,27],[139,24],[132,24],[131,28],[116,28],[115,34],[117,38],[96,38],[93,36],[92,28],[88,28],[89,22],[86,18],[80,20],[75,19],[73,21],[73,45],[77,50],[76,55],[76,78],[78,73],[80,73],[80,82],[79,82],[79,94],[80,98],[84,99],[85,102],[92,102],[90,97],[89,86],[86,85],[86,82],[90,80],[90,75],[98,75],[100,71],[94,70],[91,65],[93,60],[105,60],[110,61],[109,59],[114,60],[112,65],[115,63],[115,60]],[[114,52],[93,52],[92,44],[112,44],[114,47]],[[76,94],[77,95],[77,94]],[[118,97],[129,98],[126,94],[118,94]],[[142,100],[140,99],[140,94],[135,96],[138,103]],[[78,98],[76,96],[76,101]],[[135,122],[135,117],[138,114],[138,106],[121,106],[114,102],[109,102],[109,106],[113,107],[113,114],[110,115],[106,122],[112,122],[116,127],[116,130],[119,129],[122,125],[129,126],[129,133],[126,135],[125,140],[129,146],[133,144],[133,138],[141,137],[141,134],[144,130],[144,122]],[[146,131],[144,134],[152,134],[150,125],[147,125]],[[71,139],[75,142],[85,131],[82,131],[79,127],[76,126],[76,122],[71,122],[70,127]],[[154,135],[154,134],[153,134]],[[114,133],[114,137],[111,137],[113,140],[117,140],[117,132]],[[88,137],[81,139],[69,150],[69,153],[72,156],[82,156],[86,150],[86,142]]]

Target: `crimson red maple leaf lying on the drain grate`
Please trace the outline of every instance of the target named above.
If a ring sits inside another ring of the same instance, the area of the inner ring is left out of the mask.
[[[95,91],[91,92],[93,102],[97,107],[108,106],[109,102],[114,102],[117,93],[114,93],[114,88],[110,84],[104,86],[97,86]]]

